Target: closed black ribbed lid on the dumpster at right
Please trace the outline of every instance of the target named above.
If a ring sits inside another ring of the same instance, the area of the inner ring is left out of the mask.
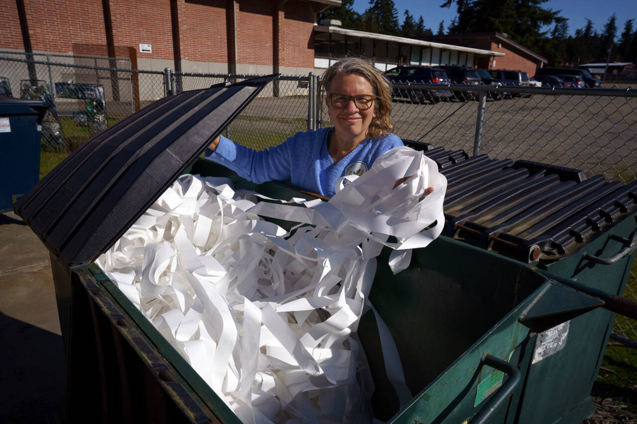
[[[443,234],[522,262],[573,255],[637,213],[637,181],[405,144],[424,150],[447,178]]]

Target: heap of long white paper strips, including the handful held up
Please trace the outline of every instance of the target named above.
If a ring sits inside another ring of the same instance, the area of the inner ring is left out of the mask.
[[[280,202],[185,175],[97,260],[245,423],[372,420],[352,333],[375,257],[396,249],[397,272],[440,234],[447,181],[409,148],[346,180],[329,202]],[[298,224],[287,232],[261,216]]]

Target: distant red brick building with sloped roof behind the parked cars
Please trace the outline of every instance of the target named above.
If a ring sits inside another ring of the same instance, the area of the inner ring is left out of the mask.
[[[503,57],[476,57],[474,66],[484,69],[512,69],[526,71],[529,76],[533,76],[538,67],[543,67],[548,62],[538,53],[516,43],[501,32],[450,34],[428,36],[422,39],[505,53]]]

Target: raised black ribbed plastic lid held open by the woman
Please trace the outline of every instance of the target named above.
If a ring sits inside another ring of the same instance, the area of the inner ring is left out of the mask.
[[[150,104],[71,153],[15,202],[15,213],[66,264],[94,261],[277,76]]]

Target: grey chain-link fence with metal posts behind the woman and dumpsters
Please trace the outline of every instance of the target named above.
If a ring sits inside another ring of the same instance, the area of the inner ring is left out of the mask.
[[[47,150],[73,150],[165,95],[252,77],[138,71],[120,58],[27,56],[0,52],[0,95],[50,105],[42,132]],[[447,150],[545,162],[622,183],[637,179],[632,88],[394,85],[391,122],[399,137]],[[261,149],[329,125],[320,77],[310,73],[277,78],[224,132]],[[625,296],[637,300],[636,267]],[[637,340],[637,323],[618,316],[615,332]]]

